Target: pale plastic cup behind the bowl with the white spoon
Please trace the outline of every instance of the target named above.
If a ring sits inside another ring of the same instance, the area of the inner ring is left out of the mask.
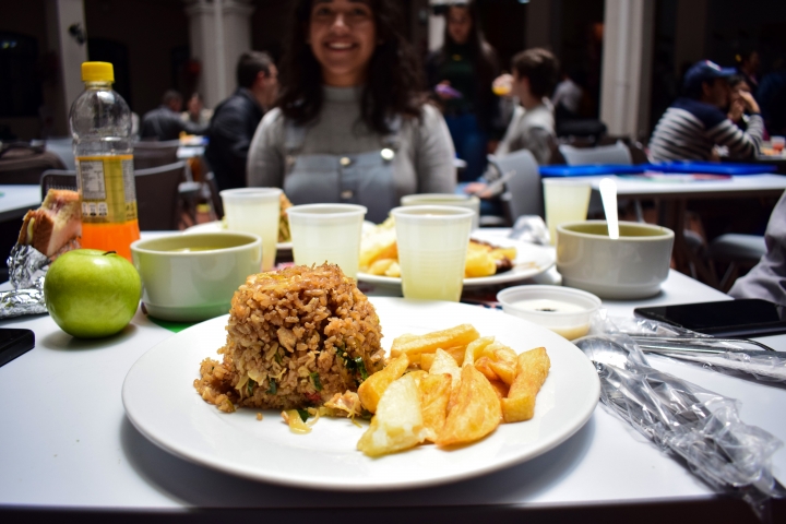
[[[567,222],[586,221],[590,210],[590,183],[580,178],[544,178],[546,225],[551,245],[557,243],[557,226]]]

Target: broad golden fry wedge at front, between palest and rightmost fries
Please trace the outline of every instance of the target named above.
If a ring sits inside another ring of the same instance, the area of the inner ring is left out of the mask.
[[[464,366],[455,405],[437,436],[437,445],[476,441],[497,429],[501,420],[500,401],[488,379],[474,366]]]

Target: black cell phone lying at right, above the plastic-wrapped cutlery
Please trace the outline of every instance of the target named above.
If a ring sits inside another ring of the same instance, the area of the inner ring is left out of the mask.
[[[742,298],[636,308],[633,313],[706,335],[747,338],[786,333],[784,309],[766,300]]]

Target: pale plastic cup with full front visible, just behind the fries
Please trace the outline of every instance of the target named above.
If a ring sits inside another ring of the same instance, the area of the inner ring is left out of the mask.
[[[391,211],[405,298],[457,302],[464,285],[473,211],[413,205]]]

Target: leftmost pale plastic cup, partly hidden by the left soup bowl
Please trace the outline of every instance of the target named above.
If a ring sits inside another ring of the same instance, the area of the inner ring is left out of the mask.
[[[262,237],[262,271],[275,267],[281,218],[278,188],[225,189],[221,193],[227,229]]]

